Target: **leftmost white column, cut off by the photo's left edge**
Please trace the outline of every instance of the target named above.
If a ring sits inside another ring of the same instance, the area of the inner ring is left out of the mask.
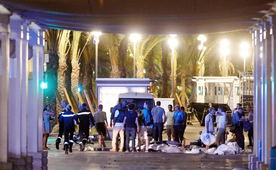
[[[0,162],[8,162],[8,95],[9,95],[9,15],[0,15],[1,55],[0,55]],[[1,163],[0,163],[1,164]]]

